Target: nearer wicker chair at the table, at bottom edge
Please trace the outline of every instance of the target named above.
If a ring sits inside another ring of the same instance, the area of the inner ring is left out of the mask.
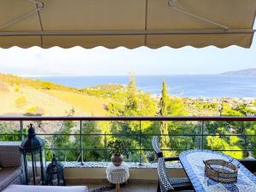
[[[186,189],[183,187],[183,184],[173,184],[171,179],[167,177],[166,174],[166,160],[163,157],[158,158],[157,172],[160,181],[160,189],[157,191],[160,192],[174,192],[174,191],[183,191],[183,192],[193,192],[193,189]]]

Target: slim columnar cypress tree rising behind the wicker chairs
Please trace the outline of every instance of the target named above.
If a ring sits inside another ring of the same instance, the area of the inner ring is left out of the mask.
[[[160,98],[159,108],[160,108],[160,116],[167,116],[168,111],[168,96],[167,96],[167,90],[166,90],[166,82],[163,82],[162,84],[162,95]],[[160,139],[160,148],[171,148],[170,143],[170,137],[169,137],[169,131],[168,131],[168,123],[166,121],[160,122],[160,135],[162,136]],[[171,156],[173,153],[171,153],[169,150],[164,151],[164,156]]]

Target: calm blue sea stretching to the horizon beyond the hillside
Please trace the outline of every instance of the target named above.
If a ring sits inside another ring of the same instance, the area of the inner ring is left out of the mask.
[[[128,84],[129,76],[42,76],[30,77],[70,87],[85,88],[99,84]],[[166,82],[172,96],[256,97],[256,76],[236,75],[137,75],[137,89],[160,95]]]

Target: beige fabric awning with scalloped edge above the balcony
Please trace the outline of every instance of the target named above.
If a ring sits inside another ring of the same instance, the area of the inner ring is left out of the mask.
[[[0,47],[249,48],[255,10],[256,0],[0,0]]]

